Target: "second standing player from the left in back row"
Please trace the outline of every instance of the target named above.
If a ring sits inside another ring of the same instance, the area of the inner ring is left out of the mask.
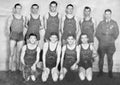
[[[33,4],[31,6],[31,13],[28,17],[26,17],[27,24],[27,33],[26,40],[29,38],[31,33],[37,35],[37,40],[39,42],[39,47],[42,49],[44,43],[44,34],[45,30],[43,28],[43,18],[39,14],[39,5]]]

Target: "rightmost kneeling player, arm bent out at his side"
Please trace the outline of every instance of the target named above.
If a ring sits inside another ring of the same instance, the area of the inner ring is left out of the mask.
[[[80,47],[80,62],[79,62],[79,77],[81,80],[85,80],[85,77],[88,81],[92,80],[92,63],[94,58],[97,56],[96,50],[93,45],[88,43],[87,34],[81,34]]]

